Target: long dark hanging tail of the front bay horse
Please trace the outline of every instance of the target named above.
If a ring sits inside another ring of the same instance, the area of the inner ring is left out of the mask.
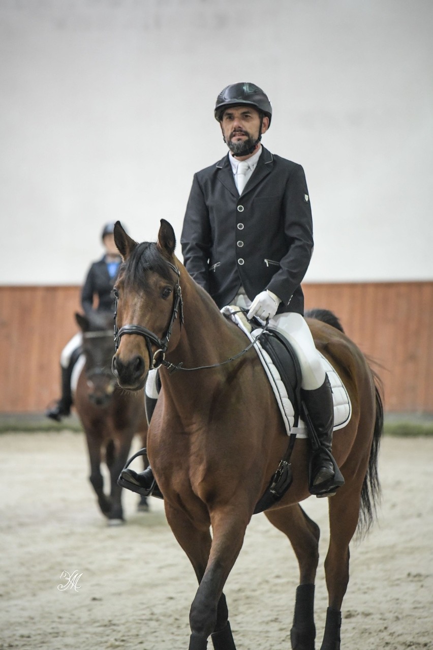
[[[380,502],[380,481],[377,471],[377,459],[380,446],[380,440],[384,430],[384,406],[382,402],[382,382],[378,375],[371,370],[375,382],[376,398],[376,419],[373,430],[373,441],[371,442],[370,457],[368,461],[367,473],[365,474],[364,483],[361,490],[360,515],[358,519],[357,536],[363,538],[369,531],[377,515],[377,504]]]

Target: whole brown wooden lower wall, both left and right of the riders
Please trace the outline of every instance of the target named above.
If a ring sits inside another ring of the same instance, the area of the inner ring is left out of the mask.
[[[59,396],[60,352],[77,331],[79,287],[0,287],[0,412]],[[433,282],[305,284],[306,309],[338,315],[382,369],[385,408],[433,413]]]

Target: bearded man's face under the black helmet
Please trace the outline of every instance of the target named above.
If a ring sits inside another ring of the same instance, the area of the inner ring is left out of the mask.
[[[269,118],[263,118],[262,133],[269,126]],[[256,142],[260,130],[260,114],[249,106],[234,106],[226,109],[221,120],[221,128],[227,146],[235,156],[242,156]]]

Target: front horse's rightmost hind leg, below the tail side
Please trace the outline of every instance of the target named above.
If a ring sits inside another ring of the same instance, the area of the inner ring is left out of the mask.
[[[328,609],[321,650],[340,650],[341,603],[349,583],[349,543],[358,524],[360,486],[341,489],[329,500],[330,540],[325,559]]]

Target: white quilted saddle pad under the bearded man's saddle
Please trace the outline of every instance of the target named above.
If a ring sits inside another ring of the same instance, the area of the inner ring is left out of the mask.
[[[250,341],[254,341],[254,339],[260,335],[260,332],[262,331],[261,329],[250,331],[251,328],[249,326],[249,323],[246,318],[243,317],[243,314],[240,313],[239,307],[223,307],[223,309],[221,309],[221,312],[225,315],[228,315],[231,320],[236,323],[236,325],[247,335]],[[296,434],[299,438],[308,437],[305,422],[303,420],[299,419],[298,426],[293,426],[295,422],[295,409],[293,408],[293,404],[288,397],[286,387],[281,380],[280,373],[275,367],[275,364],[273,363],[271,357],[269,354],[267,354],[266,350],[262,348],[258,341],[254,343],[254,348],[258,354],[260,361],[262,362],[264,370],[267,374],[267,378],[269,379],[269,383],[273,389],[275,398],[277,399],[278,408],[280,409],[287,434]],[[319,355],[321,357],[323,368],[328,375],[328,379],[332,388],[332,398],[334,400],[334,431],[336,431],[337,429],[342,429],[344,426],[346,426],[346,424],[351,419],[351,400],[349,398],[349,393],[347,393],[347,390],[345,389],[345,385],[341,381],[340,376],[334,367],[332,367],[328,359],[326,359],[323,354],[319,352]]]

